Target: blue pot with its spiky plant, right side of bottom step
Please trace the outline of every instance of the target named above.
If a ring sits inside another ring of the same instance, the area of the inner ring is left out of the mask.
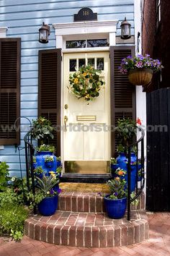
[[[104,197],[104,205],[109,218],[122,218],[127,207],[127,182],[116,176],[107,182],[110,193]]]

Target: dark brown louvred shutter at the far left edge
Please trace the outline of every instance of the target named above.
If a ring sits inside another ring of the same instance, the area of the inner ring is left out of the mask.
[[[0,38],[0,145],[19,144],[20,51],[20,38]]]

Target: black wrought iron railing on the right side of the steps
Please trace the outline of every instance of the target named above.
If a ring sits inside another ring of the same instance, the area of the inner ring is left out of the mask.
[[[143,192],[143,188],[145,186],[145,157],[144,157],[144,137],[145,137],[145,132],[143,128],[138,127],[138,131],[141,132],[141,137],[139,140],[134,142],[132,145],[128,147],[128,221],[130,221],[130,205],[133,201],[135,201],[140,194]],[[131,184],[131,179],[130,179],[130,172],[131,172],[131,166],[130,166],[130,156],[132,153],[132,148],[136,147],[137,153],[136,153],[136,186],[135,186],[135,197],[131,198],[130,197],[130,184]],[[139,152],[140,152],[140,157],[139,157]],[[140,159],[140,165],[139,165],[139,159]],[[139,170],[139,166],[141,171]],[[138,182],[138,171],[140,171],[141,179],[140,182]],[[138,186],[139,185],[139,186]]]

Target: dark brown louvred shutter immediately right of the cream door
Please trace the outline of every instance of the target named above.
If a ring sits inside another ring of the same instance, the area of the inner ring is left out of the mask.
[[[110,74],[111,74],[111,123],[117,124],[117,119],[130,117],[135,119],[135,86],[131,85],[128,75],[121,74],[118,67],[123,58],[134,56],[133,46],[110,47]],[[112,132],[112,155],[115,155],[117,138]]]

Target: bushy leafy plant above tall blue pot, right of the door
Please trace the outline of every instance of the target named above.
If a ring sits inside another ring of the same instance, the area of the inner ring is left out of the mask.
[[[136,135],[136,122],[129,118],[118,119],[115,131],[117,132],[117,137],[120,140],[120,145],[125,148],[126,152],[128,150],[128,146],[132,143],[132,140]]]

